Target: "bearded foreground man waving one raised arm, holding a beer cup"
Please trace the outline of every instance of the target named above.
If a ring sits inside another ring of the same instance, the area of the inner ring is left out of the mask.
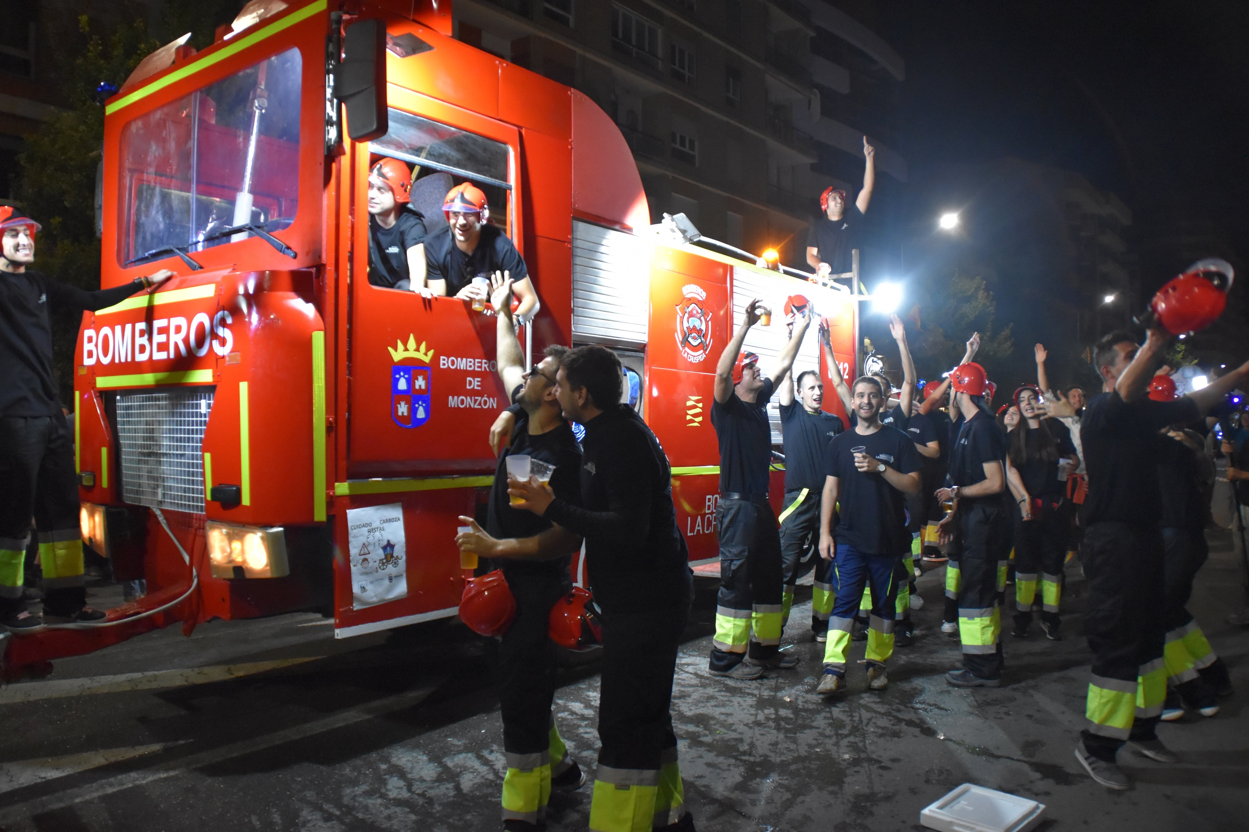
[[[568,756],[555,726],[556,652],[547,636],[551,607],[568,590],[570,553],[581,537],[513,508],[517,498],[507,493],[508,476],[548,482],[563,500],[577,502],[581,447],[555,397],[560,356],[567,347],[550,346],[536,366],[525,370],[525,355],[516,339],[511,311],[512,281],[496,277],[491,302],[498,316],[498,375],[512,394],[508,409],[508,442],[496,447],[498,465],[490,492],[485,531],[476,522],[456,542],[461,552],[501,557],[517,546],[530,545],[548,560],[498,560],[507,586],[516,598],[516,618],[498,646],[498,700],[503,717],[503,828],[537,830],[551,790],[572,791],[585,783],[581,768]],[[543,480],[545,477],[545,480]]]

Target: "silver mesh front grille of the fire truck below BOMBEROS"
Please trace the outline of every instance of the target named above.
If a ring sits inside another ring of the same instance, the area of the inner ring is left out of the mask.
[[[121,498],[204,513],[204,428],[215,387],[117,394]]]

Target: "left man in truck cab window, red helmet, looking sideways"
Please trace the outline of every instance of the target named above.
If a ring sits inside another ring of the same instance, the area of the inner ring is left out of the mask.
[[[412,207],[407,165],[382,159],[368,172],[368,282],[432,292],[425,286],[425,217]]]

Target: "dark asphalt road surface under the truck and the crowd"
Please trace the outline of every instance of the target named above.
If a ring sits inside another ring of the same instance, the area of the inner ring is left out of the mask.
[[[832,702],[812,692],[823,645],[809,641],[809,591],[786,631],[798,668],[736,682],[706,673],[716,581],[698,578],[673,697],[698,828],[921,830],[921,810],[964,782],[1045,803],[1048,831],[1249,828],[1249,631],[1223,622],[1244,601],[1244,573],[1230,535],[1209,537],[1192,610],[1239,692],[1214,718],[1159,730],[1180,765],[1124,752],[1137,787],[1122,793],[1072,753],[1090,661],[1078,565],[1067,638],[1007,635],[1004,687],[942,678],[958,647],[938,628],[937,568],[919,580],[919,638],[898,648],[889,688],[866,691],[852,663],[849,692]],[[0,688],[0,830],[500,828],[495,642],[455,621],[343,641],[332,631],[307,613],[212,622],[190,638],[170,628]],[[852,662],[862,652],[856,643]],[[557,718],[591,775],[597,700],[595,663],[563,672]],[[555,796],[550,830],[583,830],[588,812],[588,786]]]

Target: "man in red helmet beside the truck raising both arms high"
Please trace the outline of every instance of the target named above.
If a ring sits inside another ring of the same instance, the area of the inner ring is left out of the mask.
[[[779,652],[783,576],[777,518],[768,502],[772,427],[767,406],[777,382],[793,366],[814,312],[809,305],[796,312],[793,334],[772,375],[764,376],[759,356],[743,352],[742,342],[768,311],[758,300],[746,305],[742,325],[716,365],[711,407],[711,423],[719,441],[716,528],[721,585],[708,670],[729,678],[758,678],[764,668],[798,663],[796,656]]]

